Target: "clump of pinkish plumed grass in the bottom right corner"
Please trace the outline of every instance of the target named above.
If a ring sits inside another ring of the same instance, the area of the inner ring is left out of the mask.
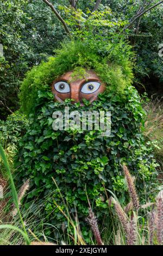
[[[156,197],[156,202],[138,204],[136,188],[127,166],[123,166],[131,198],[129,207],[123,209],[118,200],[111,197],[115,215],[120,221],[117,225],[115,243],[119,245],[162,245],[163,244],[163,190]],[[151,209],[149,211],[149,209]],[[146,210],[145,213],[143,211]]]

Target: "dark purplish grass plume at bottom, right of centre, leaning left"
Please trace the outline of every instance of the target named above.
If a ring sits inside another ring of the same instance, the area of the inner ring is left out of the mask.
[[[98,229],[97,218],[95,214],[93,214],[91,208],[89,208],[89,217],[87,218],[87,220],[92,228],[93,234],[97,241],[97,245],[103,245],[101,234],[99,233],[99,229]]]

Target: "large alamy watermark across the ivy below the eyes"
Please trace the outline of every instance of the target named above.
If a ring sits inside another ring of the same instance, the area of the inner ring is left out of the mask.
[[[53,112],[54,131],[101,131],[100,136],[109,136],[111,132],[111,112],[110,111],[69,111],[65,107],[64,113],[61,111]]]

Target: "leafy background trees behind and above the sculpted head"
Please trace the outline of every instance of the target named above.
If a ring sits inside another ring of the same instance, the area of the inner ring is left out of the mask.
[[[129,39],[136,55],[136,85],[147,85],[151,93],[151,84],[157,91],[162,85],[162,58],[158,56],[158,46],[162,43],[162,5],[144,15],[140,22],[137,20],[126,34],[122,33],[142,2],[114,0],[108,4],[103,0],[98,10],[91,13],[95,1],[78,1],[77,10],[70,7],[69,1],[52,1],[70,28],[71,36],[89,41],[91,48],[96,45],[101,54],[107,53],[103,42]],[[0,44],[4,51],[4,57],[0,57],[3,102],[0,118],[5,119],[9,109],[15,111],[19,107],[17,95],[27,70],[52,56],[60,42],[69,36],[42,0],[2,0],[0,12]],[[98,37],[101,39],[97,40]]]

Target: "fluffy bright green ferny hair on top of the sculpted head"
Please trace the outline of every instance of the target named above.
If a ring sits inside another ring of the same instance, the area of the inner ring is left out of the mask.
[[[123,95],[124,89],[131,84],[133,74],[130,63],[130,48],[124,42],[105,46],[105,56],[99,48],[91,49],[84,42],[63,44],[57,55],[34,66],[27,73],[21,86],[21,109],[29,115],[35,111],[38,90],[45,86],[51,90],[52,81],[66,71],[74,70],[74,78],[84,76],[85,69],[93,69],[106,83],[108,92]]]

